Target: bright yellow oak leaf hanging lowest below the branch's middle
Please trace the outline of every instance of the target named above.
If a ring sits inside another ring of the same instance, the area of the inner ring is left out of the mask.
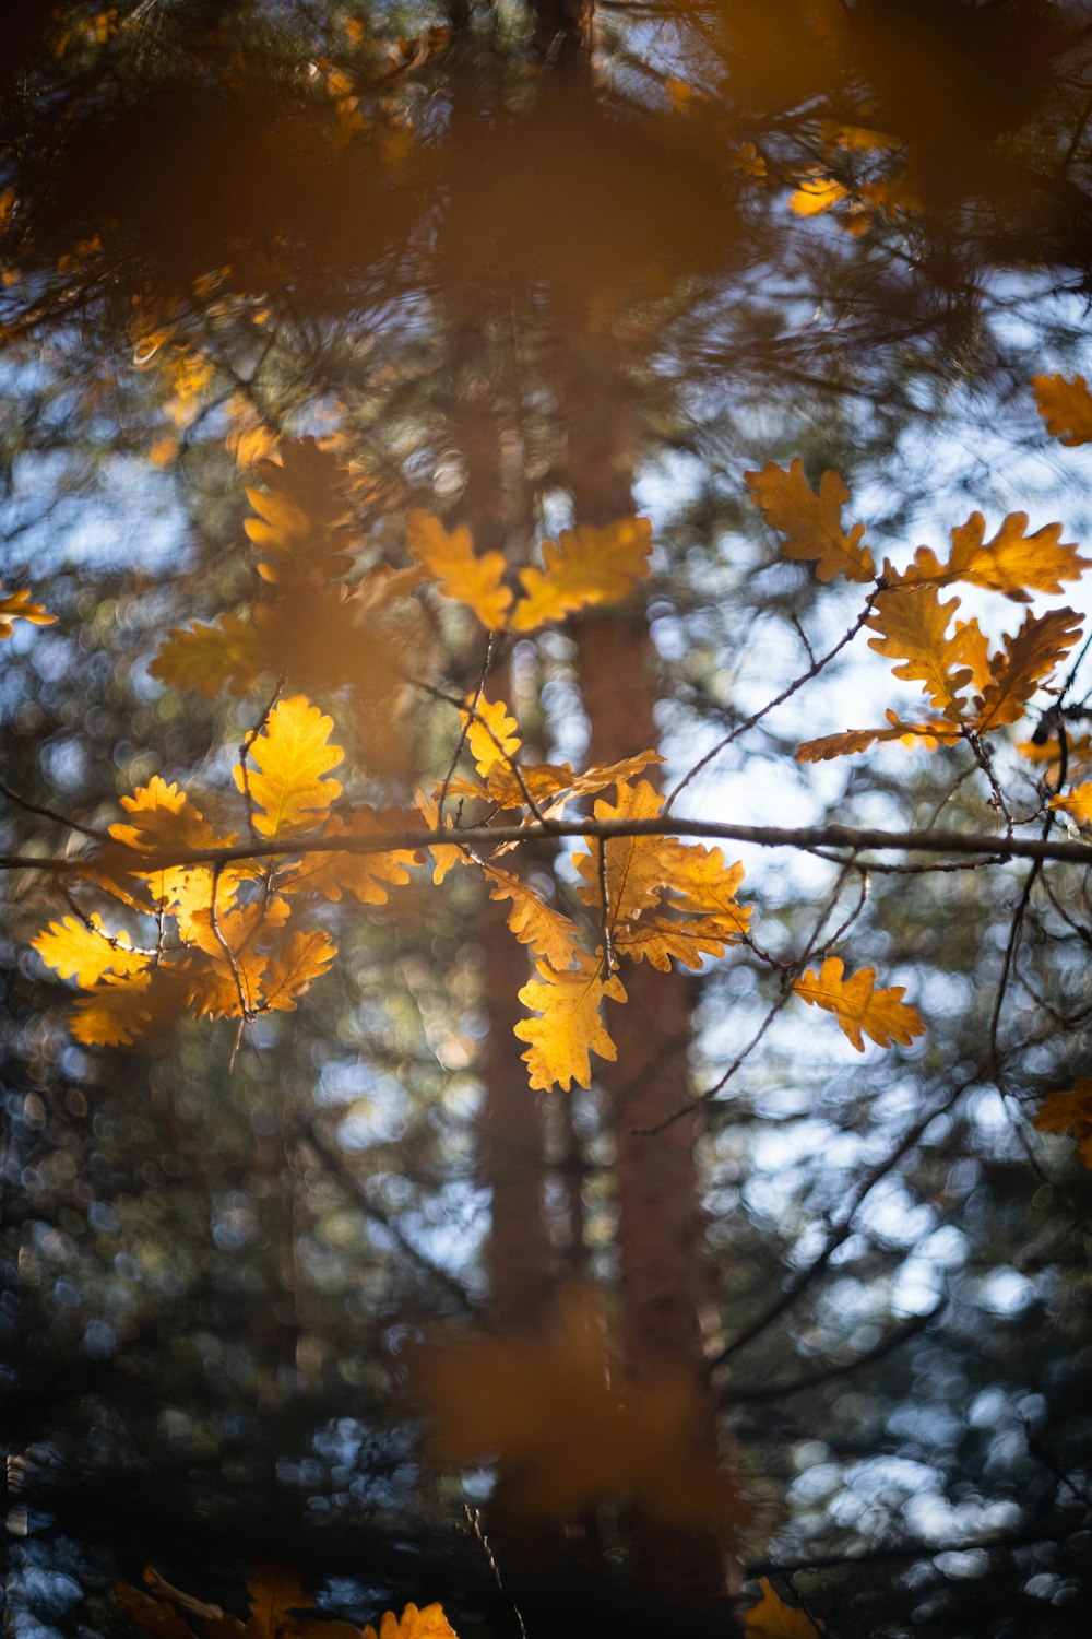
[[[521,1057],[530,1072],[530,1087],[548,1092],[560,1087],[568,1092],[573,1082],[591,1087],[589,1054],[601,1059],[617,1059],[599,1005],[604,997],[625,1001],[625,990],[617,975],[602,978],[601,964],[583,956],[580,967],[558,974],[548,962],[539,962],[539,978],[530,978],[519,992],[524,1006],[542,1015],[521,1019],[516,1036],[530,1042]]]

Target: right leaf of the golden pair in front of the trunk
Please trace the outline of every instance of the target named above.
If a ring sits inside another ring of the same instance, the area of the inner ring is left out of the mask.
[[[652,524],[647,518],[617,518],[602,529],[578,524],[563,529],[557,546],[542,543],[545,570],[519,570],[524,595],[512,615],[512,631],[534,631],[565,620],[593,603],[627,597],[648,574]]]

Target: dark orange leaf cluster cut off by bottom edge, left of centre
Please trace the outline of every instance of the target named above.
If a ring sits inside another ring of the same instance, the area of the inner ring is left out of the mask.
[[[228,1616],[219,1605],[195,1600],[174,1588],[151,1567],[144,1593],[128,1582],[115,1582],[115,1595],[124,1614],[154,1639],[195,1639],[196,1619],[203,1639],[458,1639],[440,1605],[406,1605],[401,1618],[385,1611],[377,1634],[372,1623],[363,1629],[342,1621],[316,1621],[301,1616],[314,1608],[314,1600],[300,1587],[295,1565],[259,1560],[247,1582],[247,1621]]]

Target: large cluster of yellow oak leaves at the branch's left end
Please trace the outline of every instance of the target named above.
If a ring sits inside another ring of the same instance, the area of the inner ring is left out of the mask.
[[[98,1046],[131,1042],[182,1013],[252,1019],[290,1013],[326,972],[336,946],[321,928],[296,928],[301,893],[362,903],[386,901],[388,885],[409,880],[413,849],[350,852],[388,823],[357,810],[352,824],[331,818],[341,793],[327,770],[342,759],[329,744],[332,721],[303,695],[283,700],[249,747],[254,769],[237,764],[236,785],[260,856],[262,841],[326,838],[336,847],[303,857],[223,860],[236,833],[219,831],[177,785],[159,777],[123,797],[129,823],[110,828],[111,842],[87,856],[88,882],[154,929],[136,946],[128,928],[110,929],[97,911],[64,916],[33,941],[41,959],[87,992],[75,1003],[72,1034]],[[406,818],[399,816],[403,828]],[[201,859],[205,856],[205,859]],[[133,918],[131,918],[133,919]]]

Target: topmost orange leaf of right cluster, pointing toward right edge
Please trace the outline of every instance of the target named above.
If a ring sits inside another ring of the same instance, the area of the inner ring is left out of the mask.
[[[1027,528],[1027,513],[1009,513],[997,534],[987,541],[986,520],[974,511],[951,531],[946,564],[941,564],[932,547],[920,546],[904,575],[896,575],[884,564],[884,580],[892,585],[928,582],[935,587],[963,580],[1000,592],[1013,603],[1030,603],[1033,592],[1056,595],[1063,590],[1063,580],[1079,580],[1092,565],[1092,559],[1081,557],[1076,543],[1061,539],[1059,523],[1043,524],[1033,534],[1025,534]]]

